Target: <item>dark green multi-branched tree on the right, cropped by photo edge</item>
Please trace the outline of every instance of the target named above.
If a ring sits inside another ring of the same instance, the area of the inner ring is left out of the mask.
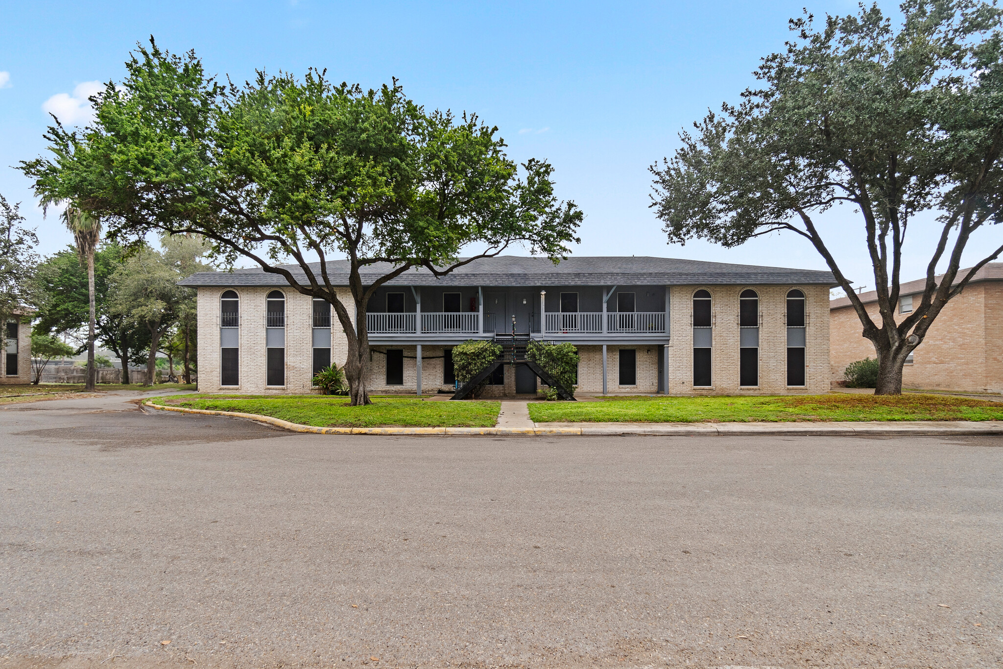
[[[902,392],[907,356],[948,301],[1003,252],[998,236],[983,239],[978,262],[959,274],[972,235],[1001,220],[1000,10],[970,0],[909,0],[901,8],[898,30],[877,5],[826,16],[817,29],[810,16],[792,20],[786,50],[755,73],[761,86],[695,123],[671,159],[652,165],[652,207],[670,242],[732,247],[783,231],[811,243],[874,344],[878,394]],[[860,224],[877,318],[818,226],[818,215],[839,203]],[[906,235],[928,211],[939,214],[941,228],[929,240],[926,284],[913,312],[897,321]]]

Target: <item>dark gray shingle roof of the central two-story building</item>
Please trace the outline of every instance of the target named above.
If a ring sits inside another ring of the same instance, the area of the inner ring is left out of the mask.
[[[306,282],[298,265],[285,265],[293,276]],[[329,261],[328,276],[338,286],[348,285],[348,261]],[[320,276],[320,264],[311,269]],[[378,263],[362,272],[363,281],[391,270]],[[233,272],[199,272],[180,282],[183,286],[284,286],[279,275],[261,268]],[[835,285],[831,272],[792,270],[781,267],[731,265],[699,260],[652,258],[650,256],[582,256],[554,265],[546,258],[497,256],[474,261],[436,279],[424,269],[408,270],[390,286],[610,286],[610,285],[725,285],[725,284],[824,284]]]

